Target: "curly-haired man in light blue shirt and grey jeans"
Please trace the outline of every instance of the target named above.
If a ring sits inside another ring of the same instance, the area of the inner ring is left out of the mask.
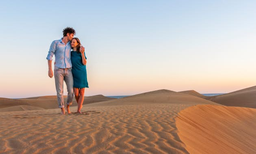
[[[63,99],[63,81],[67,85],[67,112],[70,112],[69,105],[72,105],[72,100],[74,96],[73,89],[73,75],[72,75],[72,63],[71,63],[71,45],[76,31],[73,28],[67,27],[63,30],[63,38],[60,40],[52,41],[50,46],[47,60],[48,60],[48,75],[50,78],[53,77],[52,72],[52,57],[55,56],[55,66],[54,66],[54,79],[58,98],[59,108],[61,108],[61,113],[65,114],[65,105]],[[80,47],[80,51],[84,51],[84,47]]]

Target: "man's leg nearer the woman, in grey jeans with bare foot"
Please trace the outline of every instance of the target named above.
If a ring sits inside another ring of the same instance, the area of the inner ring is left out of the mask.
[[[71,68],[65,70],[64,81],[67,85],[67,112],[71,113],[69,110],[69,105],[72,105],[73,97],[74,97],[74,88],[73,88],[73,75]]]

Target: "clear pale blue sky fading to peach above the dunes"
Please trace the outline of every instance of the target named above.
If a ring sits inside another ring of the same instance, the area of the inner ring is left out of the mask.
[[[255,8],[254,0],[1,1],[0,97],[56,95],[46,56],[68,26],[85,46],[85,96],[255,86]]]

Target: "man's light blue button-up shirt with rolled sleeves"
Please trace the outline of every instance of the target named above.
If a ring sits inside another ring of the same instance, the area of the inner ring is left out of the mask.
[[[72,67],[71,63],[71,45],[70,41],[65,43],[60,40],[52,41],[50,46],[48,55],[46,57],[47,60],[52,60],[53,55],[55,56],[55,66],[59,68],[70,68]]]

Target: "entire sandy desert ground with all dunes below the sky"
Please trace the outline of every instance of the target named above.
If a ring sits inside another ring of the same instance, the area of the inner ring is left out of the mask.
[[[56,96],[0,98],[0,153],[256,153],[256,86],[219,96],[156,90],[85,96],[61,115]]]

